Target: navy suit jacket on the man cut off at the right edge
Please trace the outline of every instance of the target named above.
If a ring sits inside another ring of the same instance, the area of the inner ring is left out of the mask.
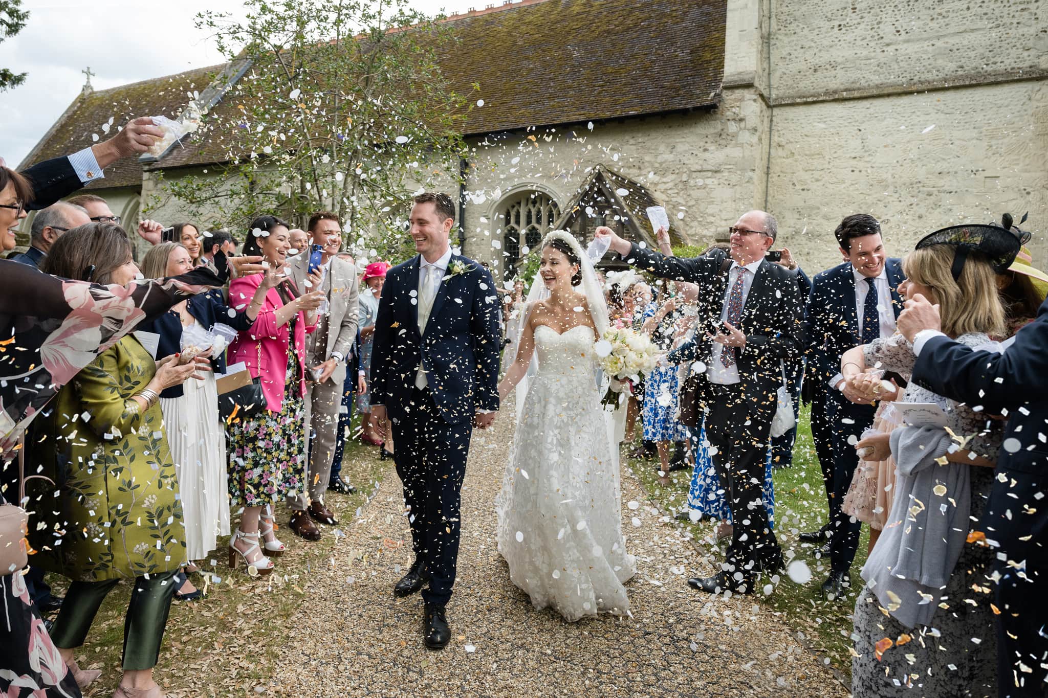
[[[1009,560],[1048,565],[1048,300],[1004,354],[976,352],[944,336],[930,339],[913,380],[987,414],[1007,414],[983,531]]]

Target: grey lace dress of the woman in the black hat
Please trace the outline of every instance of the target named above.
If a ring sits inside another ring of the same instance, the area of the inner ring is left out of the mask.
[[[985,334],[970,333],[958,342],[977,347],[989,342]],[[878,365],[908,378],[916,358],[913,345],[900,335],[877,339],[865,348],[867,365]],[[911,382],[905,403],[945,405],[948,426],[961,436],[971,436],[966,447],[996,459],[1001,446],[1000,423],[989,422],[966,405],[947,401]],[[970,466],[971,522],[986,508],[994,485],[994,469]],[[890,525],[890,524],[889,524]],[[883,540],[883,539],[881,539]],[[878,542],[878,545],[880,543]],[[994,627],[991,548],[967,543],[945,588],[934,600],[939,609],[933,626],[907,628],[879,608],[877,598],[864,588],[855,602],[855,652],[852,659],[852,694],[856,698],[882,696],[996,696],[997,634]],[[877,643],[890,647],[877,656]],[[903,638],[904,644],[899,644]]]

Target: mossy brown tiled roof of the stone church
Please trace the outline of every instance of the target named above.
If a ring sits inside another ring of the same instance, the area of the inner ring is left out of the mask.
[[[464,133],[479,135],[641,114],[707,108],[720,99],[726,0],[525,0],[452,17],[457,38],[440,49],[453,89],[470,95]],[[90,144],[115,116],[175,116],[188,92],[203,91],[224,66],[94,92],[77,105],[28,165]],[[480,86],[474,91],[474,84]],[[483,99],[483,107],[476,100]],[[212,111],[228,122],[236,97]],[[178,167],[223,162],[235,134],[187,138],[158,163]],[[131,184],[141,165],[125,159],[103,186]],[[96,185],[95,188],[101,188]]]

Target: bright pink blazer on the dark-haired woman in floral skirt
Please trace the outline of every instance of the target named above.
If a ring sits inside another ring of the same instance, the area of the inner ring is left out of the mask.
[[[262,274],[235,278],[230,284],[230,308],[246,308],[262,283]],[[252,378],[261,378],[266,408],[279,412],[284,403],[284,385],[287,383],[288,325],[277,327],[276,311],[284,307],[277,289],[265,294],[262,310],[255,323],[241,332],[230,344],[228,363],[243,361]],[[316,329],[306,324],[305,313],[299,312],[294,323],[294,348],[299,356],[299,395],[306,395],[306,334]],[[260,351],[261,350],[261,351]],[[261,358],[261,363],[259,359]]]

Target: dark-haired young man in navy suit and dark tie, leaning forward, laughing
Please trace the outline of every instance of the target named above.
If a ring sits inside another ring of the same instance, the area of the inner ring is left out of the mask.
[[[805,312],[808,375],[813,388],[811,434],[823,468],[830,517],[822,530],[801,534],[801,540],[829,539],[830,576],[823,583],[823,593],[839,599],[851,583],[849,569],[861,528],[860,521],[840,511],[840,503],[858,466],[854,444],[873,425],[875,411],[845,383],[840,355],[892,336],[895,318],[902,310],[898,286],[904,276],[900,260],[886,258],[880,224],[872,216],[849,216],[833,234],[848,261],[815,275]]]

